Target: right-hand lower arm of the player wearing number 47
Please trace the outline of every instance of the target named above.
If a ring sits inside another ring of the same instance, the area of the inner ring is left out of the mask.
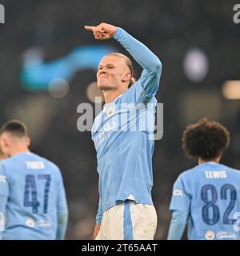
[[[66,202],[66,192],[62,181],[62,175],[60,175],[60,180],[58,182],[57,218],[58,228],[56,240],[63,240],[65,238],[68,222],[68,208]]]

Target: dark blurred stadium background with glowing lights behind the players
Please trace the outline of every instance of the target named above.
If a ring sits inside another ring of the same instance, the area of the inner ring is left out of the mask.
[[[96,81],[96,56],[102,52],[89,57],[81,50],[114,47],[126,54],[114,40],[95,41],[83,26],[121,26],[162,60],[157,98],[164,103],[164,135],[155,142],[153,198],[155,238],[166,239],[173,182],[196,164],[182,152],[189,122],[222,122],[231,133],[222,162],[240,169],[240,84],[230,82],[240,80],[240,24],[233,21],[238,2],[1,0],[6,23],[0,24],[0,125],[10,118],[26,122],[31,150],[62,169],[70,210],[66,238],[90,239],[98,207],[94,144],[90,132],[77,130],[77,107],[94,106],[88,86]],[[138,78],[141,69],[134,66]]]

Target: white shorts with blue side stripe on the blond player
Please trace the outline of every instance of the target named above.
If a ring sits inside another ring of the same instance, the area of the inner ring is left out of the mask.
[[[157,222],[153,205],[126,199],[103,213],[96,240],[153,240]]]

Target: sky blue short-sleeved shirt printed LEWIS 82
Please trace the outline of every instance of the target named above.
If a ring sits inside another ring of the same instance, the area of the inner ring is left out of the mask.
[[[216,162],[183,172],[170,210],[189,214],[189,239],[240,239],[240,172]]]

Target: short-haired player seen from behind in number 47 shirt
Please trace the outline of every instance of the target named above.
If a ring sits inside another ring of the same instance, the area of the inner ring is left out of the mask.
[[[30,152],[18,120],[2,126],[0,146],[6,158],[0,162],[0,238],[63,239],[68,211],[58,166]]]

